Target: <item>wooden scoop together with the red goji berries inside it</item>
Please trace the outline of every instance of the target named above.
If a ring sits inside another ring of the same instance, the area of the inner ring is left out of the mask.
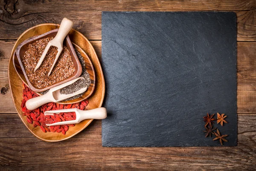
[[[55,115],[54,115],[55,114]],[[80,109],[60,109],[45,111],[44,115],[51,115],[46,117],[47,126],[68,125],[79,123],[85,119],[105,119],[107,117],[107,110],[104,107],[99,107],[91,110]]]

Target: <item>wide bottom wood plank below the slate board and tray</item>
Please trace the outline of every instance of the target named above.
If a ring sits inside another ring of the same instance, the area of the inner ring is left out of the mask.
[[[2,170],[254,170],[255,126],[255,114],[238,115],[236,147],[107,148],[101,143],[101,121],[93,121],[73,138],[47,143],[32,137],[17,115],[4,114],[0,165]]]

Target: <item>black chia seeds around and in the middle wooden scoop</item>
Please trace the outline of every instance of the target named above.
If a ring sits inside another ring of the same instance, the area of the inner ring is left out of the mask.
[[[90,86],[90,83],[91,83],[91,80],[90,80],[90,75],[89,73],[87,72],[87,70],[85,69],[85,62],[84,62],[84,58],[81,56],[81,54],[75,49],[76,51],[76,55],[79,59],[79,62],[81,63],[81,66],[82,66],[82,73],[81,73],[81,76],[84,77],[84,79],[80,79],[80,80],[77,80],[76,82],[74,82],[73,84],[70,84],[68,85],[67,87],[64,87],[60,90],[60,93],[61,94],[72,94],[72,93],[75,93],[77,91],[79,91],[80,89],[82,88],[85,88]],[[46,90],[46,91],[43,91],[41,92],[42,95],[46,94],[49,90]],[[69,101],[69,100],[73,100],[73,99],[76,99],[76,98],[79,98],[83,95],[84,93],[81,93],[81,94],[78,94],[78,95],[75,95],[71,98],[68,98],[64,101]]]

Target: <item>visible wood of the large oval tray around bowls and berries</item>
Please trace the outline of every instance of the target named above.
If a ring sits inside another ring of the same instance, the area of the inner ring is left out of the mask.
[[[66,135],[63,135],[61,133],[52,133],[52,132],[44,133],[41,131],[39,127],[34,128],[32,124],[26,121],[26,117],[22,115],[22,111],[20,107],[20,104],[22,101],[22,80],[20,79],[20,77],[15,71],[12,58],[15,53],[15,49],[17,48],[17,45],[19,45],[21,42],[28,39],[29,37],[39,35],[39,34],[44,34],[47,31],[53,30],[58,27],[59,27],[58,24],[40,24],[24,31],[23,34],[21,34],[20,37],[17,39],[14,47],[12,48],[12,53],[10,56],[9,66],[8,66],[8,78],[9,78],[10,90],[12,93],[12,100],[21,121],[25,124],[25,126],[29,129],[29,131],[35,137],[48,142],[61,141],[61,140],[66,140],[70,137],[73,137],[74,135],[81,132],[84,128],[86,128],[93,121],[93,119],[87,119],[87,120],[81,121],[80,123],[76,124],[76,126],[70,127],[69,130],[66,132]],[[99,59],[96,55],[96,52],[93,46],[88,41],[88,39],[79,31],[72,29],[70,31],[69,36],[70,36],[71,42],[78,45],[89,56],[90,61],[93,63],[93,67],[95,71],[95,76],[96,76],[95,88],[92,95],[90,95],[90,97],[88,98],[89,104],[87,105],[87,109],[95,109],[95,108],[101,107],[104,99],[104,95],[105,95],[105,81],[102,73],[102,68],[101,68]]]

